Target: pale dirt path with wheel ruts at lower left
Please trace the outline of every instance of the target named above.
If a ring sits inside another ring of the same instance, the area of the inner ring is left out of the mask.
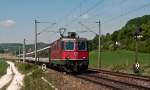
[[[24,76],[18,72],[13,62],[7,63],[10,66],[7,68],[7,74],[0,79],[0,89],[12,80],[6,90],[19,90],[23,85]]]

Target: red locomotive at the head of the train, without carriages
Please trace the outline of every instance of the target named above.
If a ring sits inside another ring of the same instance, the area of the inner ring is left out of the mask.
[[[76,37],[69,32],[50,44],[50,65],[65,71],[85,71],[88,69],[89,53],[87,39]]]

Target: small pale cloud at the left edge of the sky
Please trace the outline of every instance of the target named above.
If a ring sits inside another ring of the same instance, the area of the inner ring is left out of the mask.
[[[16,22],[14,20],[4,20],[4,21],[0,21],[0,27],[4,27],[4,28],[11,28],[16,24]]]

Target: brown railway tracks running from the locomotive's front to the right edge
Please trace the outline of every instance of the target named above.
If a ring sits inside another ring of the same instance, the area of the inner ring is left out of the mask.
[[[84,73],[74,77],[103,85],[114,90],[150,90],[150,78],[133,74],[91,70],[94,73]]]

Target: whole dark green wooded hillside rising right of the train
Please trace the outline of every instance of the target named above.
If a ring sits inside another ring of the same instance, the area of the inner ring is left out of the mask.
[[[150,52],[150,15],[144,15],[129,20],[121,29],[114,31],[112,34],[107,33],[101,36],[102,50],[127,49],[135,50],[134,32],[137,28],[142,30],[142,38],[138,39],[138,51]],[[98,48],[98,36],[89,41],[90,50]],[[116,45],[119,42],[119,45]]]

